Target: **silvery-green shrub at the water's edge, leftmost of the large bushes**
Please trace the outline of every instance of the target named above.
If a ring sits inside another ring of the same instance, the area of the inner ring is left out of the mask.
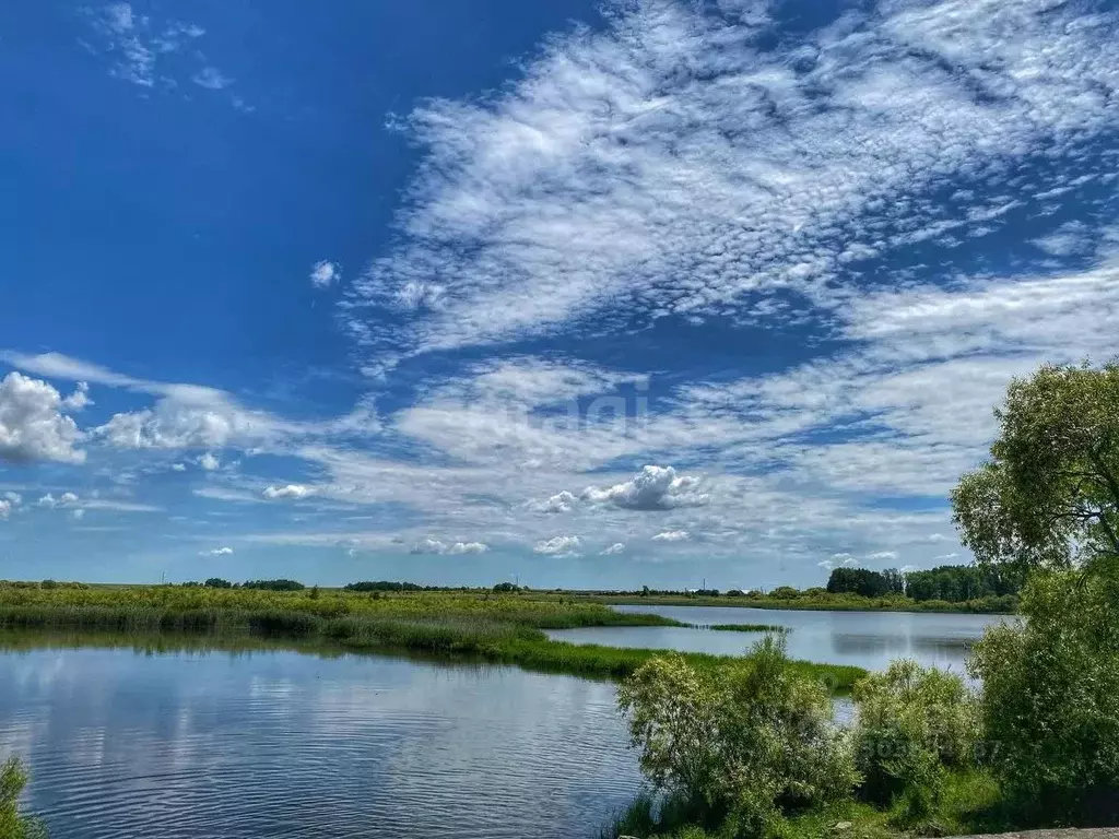
[[[835,800],[857,780],[824,687],[767,638],[749,658],[699,672],[681,656],[653,658],[619,690],[632,743],[653,788],[736,836],[763,836],[786,813]]]

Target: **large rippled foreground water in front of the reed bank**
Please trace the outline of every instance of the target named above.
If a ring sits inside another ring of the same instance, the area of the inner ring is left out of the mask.
[[[0,652],[51,839],[593,837],[640,785],[614,689],[298,652]]]

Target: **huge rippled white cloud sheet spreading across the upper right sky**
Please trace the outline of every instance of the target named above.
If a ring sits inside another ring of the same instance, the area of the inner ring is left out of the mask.
[[[1005,179],[1031,150],[1079,154],[1113,125],[1111,12],[902,0],[777,47],[763,13],[611,12],[604,31],[549,39],[500,94],[407,120],[427,148],[407,235],[354,299],[397,305],[412,349],[592,318],[788,319],[760,300],[774,290],[837,307],[855,261],[989,230],[1018,206],[925,196]],[[367,341],[407,347],[348,314]]]

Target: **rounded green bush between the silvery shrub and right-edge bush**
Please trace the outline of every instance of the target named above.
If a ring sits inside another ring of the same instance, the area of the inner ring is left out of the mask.
[[[861,794],[875,804],[901,796],[913,818],[938,803],[946,767],[975,761],[977,711],[962,679],[915,661],[894,661],[855,686]]]

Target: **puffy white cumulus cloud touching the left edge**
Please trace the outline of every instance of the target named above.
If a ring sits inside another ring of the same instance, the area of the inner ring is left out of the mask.
[[[82,463],[77,424],[62,395],[46,381],[9,373],[0,379],[0,461]]]

